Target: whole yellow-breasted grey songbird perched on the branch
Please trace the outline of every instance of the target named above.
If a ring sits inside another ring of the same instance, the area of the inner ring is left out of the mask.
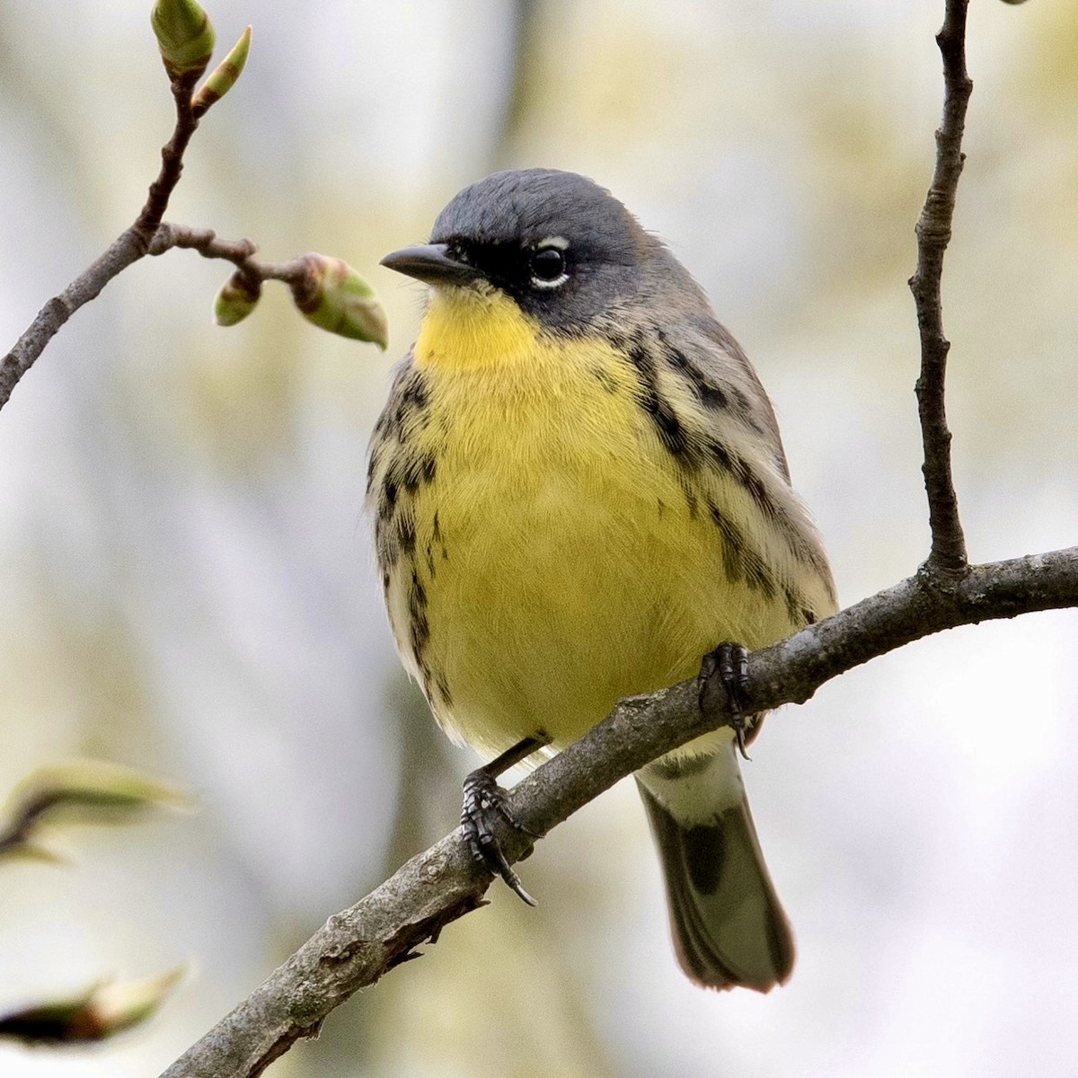
[[[489,761],[465,782],[473,854],[530,901],[484,823],[497,775],[705,657],[735,695],[748,650],[832,613],[834,583],[745,353],[606,189],[495,172],[382,264],[429,286],[370,446],[389,622],[440,725]],[[635,774],[705,987],[793,967],[738,762],[760,718]]]

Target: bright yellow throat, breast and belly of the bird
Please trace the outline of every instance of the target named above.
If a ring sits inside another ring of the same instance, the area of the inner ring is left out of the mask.
[[[424,410],[401,437],[432,464],[401,510],[409,551],[387,594],[451,732],[488,755],[538,730],[565,744],[720,640],[789,630],[780,600],[724,575],[719,533],[610,345],[446,290],[413,361]]]

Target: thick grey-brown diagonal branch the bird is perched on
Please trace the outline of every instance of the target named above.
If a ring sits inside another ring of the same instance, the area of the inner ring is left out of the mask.
[[[1078,547],[973,566],[951,589],[917,575],[749,659],[752,710],[803,703],[830,678],[944,628],[1034,610],[1078,606]],[[720,694],[714,694],[720,697]],[[616,782],[729,721],[724,705],[701,715],[694,680],[622,701],[579,742],[512,791],[524,827],[545,834]],[[512,861],[519,832],[499,840]],[[413,857],[381,887],[326,924],[162,1078],[252,1078],[357,990],[416,956],[441,929],[483,903],[490,877],[458,831]]]

